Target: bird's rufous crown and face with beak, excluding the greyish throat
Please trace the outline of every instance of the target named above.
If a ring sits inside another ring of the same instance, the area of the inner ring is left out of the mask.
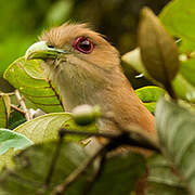
[[[63,58],[73,65],[78,61],[102,69],[119,64],[117,50],[86,24],[65,23],[44,31],[39,40],[27,50],[27,58],[42,58],[50,63]]]

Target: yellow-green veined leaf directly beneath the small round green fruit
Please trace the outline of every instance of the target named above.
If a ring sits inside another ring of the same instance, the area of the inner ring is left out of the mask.
[[[31,140],[35,143],[43,143],[51,140],[57,139],[57,133],[60,128],[66,128],[68,130],[80,130],[80,131],[95,131],[96,126],[91,123],[89,126],[78,126],[72,118],[72,115],[68,113],[54,113],[48,114],[40,117],[37,117],[32,120],[29,120],[25,123],[22,123],[14,132],[24,134],[26,138]],[[80,136],[68,136],[68,140],[79,141]],[[82,138],[83,139],[83,138]],[[9,151],[2,156],[0,156],[0,169],[6,166],[12,168],[12,157],[15,153]]]

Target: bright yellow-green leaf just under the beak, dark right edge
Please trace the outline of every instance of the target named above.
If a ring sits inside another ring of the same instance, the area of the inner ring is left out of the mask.
[[[21,57],[4,73],[4,78],[21,93],[46,113],[62,112],[63,106],[57,89],[49,80],[42,67],[43,61],[26,61]]]

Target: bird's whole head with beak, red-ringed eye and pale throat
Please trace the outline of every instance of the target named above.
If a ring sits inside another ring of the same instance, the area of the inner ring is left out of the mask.
[[[86,24],[65,23],[44,31],[39,40],[26,51],[26,58],[46,62],[66,102],[82,99],[77,102],[84,103],[103,84],[112,83],[113,73],[120,69],[118,51]]]

